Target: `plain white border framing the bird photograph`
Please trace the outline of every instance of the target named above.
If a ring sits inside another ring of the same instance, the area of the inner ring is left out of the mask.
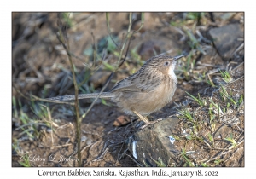
[[[251,1],[253,2],[253,1]],[[255,9],[253,3],[245,1],[9,1],[1,3],[1,70],[0,82],[1,105],[1,176],[38,177],[39,168],[12,168],[11,167],[11,12],[12,11],[245,11],[245,167],[244,168],[200,168],[201,170],[218,170],[220,177],[241,178],[251,176],[255,163]],[[73,168],[74,169],[74,168]],[[96,168],[97,169],[97,168]],[[100,168],[101,170],[103,168]],[[106,169],[106,168],[105,168]],[[125,169],[125,168],[121,168]],[[134,168],[128,168],[133,170]],[[151,168],[141,168],[152,170]],[[154,168],[157,170],[156,168]],[[159,169],[159,168],[158,168]],[[44,170],[68,170],[68,168],[44,168]],[[94,168],[86,168],[94,170]],[[119,170],[119,168],[112,168]],[[165,169],[166,170],[166,169]],[[169,170],[169,169],[168,169]],[[175,170],[199,170],[198,168],[175,168]],[[255,174],[254,174],[255,175]],[[55,176],[56,177],[56,176]],[[63,177],[63,176],[61,176]],[[65,177],[65,176],[64,176]],[[82,176],[86,177],[86,176]],[[134,177],[134,176],[133,176]],[[142,177],[136,176],[135,178]],[[164,176],[161,176],[164,177]],[[188,176],[184,176],[188,178]],[[198,176],[199,177],[199,176]],[[213,177],[213,176],[212,176]],[[255,176],[254,176],[255,177]],[[111,176],[104,178],[113,178]],[[118,177],[119,178],[119,177]],[[123,177],[120,177],[123,178]],[[193,176],[195,178],[195,176]]]

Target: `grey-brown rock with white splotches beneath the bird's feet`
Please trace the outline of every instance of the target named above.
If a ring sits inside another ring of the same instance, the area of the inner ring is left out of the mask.
[[[173,141],[171,142],[169,138],[177,122],[177,118],[166,118],[137,131],[129,141],[129,150],[133,157],[141,164],[150,166],[157,166],[155,161],[161,159],[167,166],[170,159],[177,154],[175,142],[172,144]]]

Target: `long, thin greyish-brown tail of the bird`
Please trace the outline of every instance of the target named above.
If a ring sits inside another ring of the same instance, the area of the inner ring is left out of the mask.
[[[90,93],[90,94],[80,94],[78,95],[79,99],[84,99],[84,98],[96,98],[99,95],[99,93]],[[99,98],[112,98],[113,94],[109,92],[103,92]],[[46,100],[50,101],[71,101],[75,100],[75,95],[62,95],[58,97],[52,97],[52,98],[47,98]]]

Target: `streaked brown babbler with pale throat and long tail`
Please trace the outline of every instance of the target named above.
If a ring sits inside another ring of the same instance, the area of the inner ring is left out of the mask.
[[[108,92],[79,94],[78,99],[99,98],[110,99],[128,115],[138,116],[146,125],[147,116],[160,110],[172,100],[177,89],[177,77],[174,73],[177,60],[184,55],[171,57],[168,55],[154,56],[131,76],[114,84]],[[48,98],[49,101],[72,101],[75,95],[64,95]]]

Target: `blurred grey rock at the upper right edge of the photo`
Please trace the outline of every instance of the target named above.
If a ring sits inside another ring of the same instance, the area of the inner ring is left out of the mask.
[[[243,38],[243,27],[239,24],[212,28],[209,33],[218,54],[226,61],[230,60],[236,49],[243,43],[238,41],[238,38]]]

